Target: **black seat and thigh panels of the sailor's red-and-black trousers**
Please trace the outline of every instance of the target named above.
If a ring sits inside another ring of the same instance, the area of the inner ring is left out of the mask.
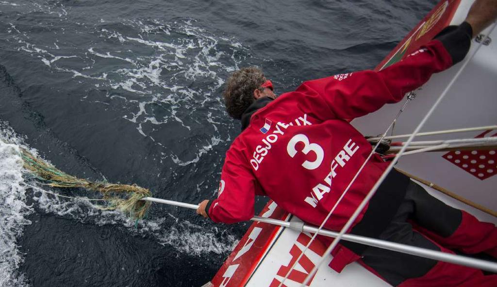
[[[413,227],[413,224],[414,226],[421,226],[423,229],[425,228],[430,232],[436,233],[438,236],[449,238],[461,225],[462,220],[462,211],[444,204],[429,195],[424,188],[414,182],[411,182],[408,185],[405,199],[400,205],[394,219],[381,233],[379,238],[440,251],[442,249],[441,245],[436,244],[427,238],[425,234],[422,234],[419,230]],[[479,223],[489,224],[484,222]],[[489,229],[488,227],[488,225],[485,225],[485,228]],[[492,231],[492,227],[490,227],[489,230]],[[494,226],[494,230],[492,232],[495,233],[495,231]],[[362,255],[362,262],[373,269],[374,272],[379,274],[392,286],[399,286],[409,279],[426,277],[435,265],[438,264],[438,261],[436,260],[376,247],[368,247]],[[458,268],[464,267],[457,266],[454,272],[461,273]],[[451,267],[449,266],[447,268],[447,266],[445,266],[443,269],[444,272],[447,272],[447,269],[451,269]],[[471,277],[474,277],[471,272],[468,274],[470,274]],[[432,273],[427,277],[431,278]],[[440,282],[439,285],[433,286],[448,285],[444,284],[444,282]]]

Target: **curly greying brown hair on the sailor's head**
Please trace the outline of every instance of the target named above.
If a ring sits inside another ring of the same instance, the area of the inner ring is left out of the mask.
[[[228,114],[240,120],[243,112],[253,103],[253,91],[263,90],[260,86],[266,81],[264,73],[256,67],[242,68],[234,72],[226,83],[223,92]]]

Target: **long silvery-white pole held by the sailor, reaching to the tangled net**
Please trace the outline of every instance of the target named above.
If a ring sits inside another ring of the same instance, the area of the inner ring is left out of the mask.
[[[182,202],[153,198],[153,197],[144,197],[144,198],[142,198],[142,200],[163,203],[163,204],[173,205],[173,206],[179,206],[179,207],[185,207],[185,208],[190,208],[190,209],[194,209],[194,210],[196,210],[198,208],[198,205],[196,205],[196,204],[188,204],[188,203],[182,203]],[[302,232],[302,231],[311,232],[311,233],[318,232],[318,234],[325,235],[328,237],[333,237],[333,238],[338,235],[338,232],[334,232],[334,231],[330,231],[330,230],[326,230],[326,229],[318,230],[319,229],[318,227],[315,227],[312,225],[307,225],[307,224],[304,224],[303,222],[288,222],[288,221],[272,219],[272,218],[265,218],[265,217],[260,217],[260,216],[253,216],[250,220],[274,224],[274,225],[279,225],[279,226],[283,226],[283,227],[288,227],[288,228],[297,230],[299,232]],[[365,236],[360,236],[360,235],[343,234],[342,239],[346,240],[346,241],[356,242],[356,243],[374,246],[374,247],[378,247],[378,248],[382,248],[382,249],[388,249],[388,250],[397,251],[397,252],[401,252],[401,253],[406,253],[406,254],[411,254],[411,255],[420,256],[420,257],[424,257],[424,258],[454,263],[454,264],[458,264],[458,265],[464,265],[464,266],[468,266],[468,267],[478,268],[478,269],[497,273],[497,263],[485,261],[485,260],[481,260],[481,259],[475,259],[475,258],[470,258],[470,257],[466,257],[466,256],[461,256],[461,255],[449,254],[449,253],[435,251],[435,250],[431,250],[431,249],[424,249],[424,248],[420,248],[420,247],[414,247],[411,245],[400,244],[400,243],[395,243],[395,242],[390,242],[390,241],[385,241],[385,240],[380,240],[380,239],[375,239],[375,238],[370,238],[370,237],[365,237]]]

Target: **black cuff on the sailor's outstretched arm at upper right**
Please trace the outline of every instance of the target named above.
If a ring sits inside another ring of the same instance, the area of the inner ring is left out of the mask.
[[[473,28],[468,22],[459,26],[448,26],[438,33],[434,39],[442,42],[452,57],[452,65],[461,62],[468,54],[473,38]]]

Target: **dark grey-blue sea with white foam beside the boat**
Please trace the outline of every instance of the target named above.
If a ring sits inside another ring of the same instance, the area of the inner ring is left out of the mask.
[[[249,223],[154,205],[135,226],[24,188],[12,150],[197,204],[240,131],[220,99],[231,72],[259,66],[283,93],[374,68],[436,2],[1,0],[0,286],[208,282]]]

